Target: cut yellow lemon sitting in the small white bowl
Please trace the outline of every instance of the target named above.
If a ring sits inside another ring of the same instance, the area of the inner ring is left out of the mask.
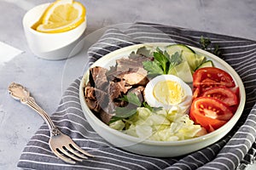
[[[85,20],[84,5],[73,0],[56,0],[46,8],[37,31],[58,33],[76,28]]]

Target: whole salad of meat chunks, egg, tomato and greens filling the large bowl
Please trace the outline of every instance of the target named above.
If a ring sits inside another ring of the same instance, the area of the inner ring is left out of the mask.
[[[110,69],[90,68],[84,96],[109,127],[158,141],[211,133],[239,105],[239,88],[230,74],[183,44],[145,46]]]

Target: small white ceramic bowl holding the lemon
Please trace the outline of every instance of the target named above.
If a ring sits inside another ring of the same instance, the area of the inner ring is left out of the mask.
[[[33,54],[43,59],[66,59],[78,54],[84,47],[82,40],[86,29],[86,19],[73,30],[60,33],[44,33],[31,28],[49,4],[38,5],[27,11],[23,17],[22,24],[29,48]]]

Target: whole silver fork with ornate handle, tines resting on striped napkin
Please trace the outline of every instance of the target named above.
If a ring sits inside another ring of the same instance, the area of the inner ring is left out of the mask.
[[[75,144],[70,137],[61,133],[61,131],[55,127],[54,122],[52,122],[48,114],[36,104],[35,100],[30,96],[30,93],[26,88],[18,83],[12,82],[9,85],[9,94],[13,98],[20,100],[22,104],[28,105],[34,111],[37,111],[39,115],[43,117],[49,127],[49,147],[55,156],[58,156],[62,161],[66,161],[71,164],[75,164],[76,161],[88,159],[87,156],[93,157],[90,153],[82,150],[77,144]]]

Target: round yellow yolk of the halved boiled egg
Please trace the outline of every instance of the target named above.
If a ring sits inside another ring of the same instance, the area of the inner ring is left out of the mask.
[[[162,104],[176,105],[182,102],[184,91],[180,83],[167,80],[155,84],[153,95]]]

